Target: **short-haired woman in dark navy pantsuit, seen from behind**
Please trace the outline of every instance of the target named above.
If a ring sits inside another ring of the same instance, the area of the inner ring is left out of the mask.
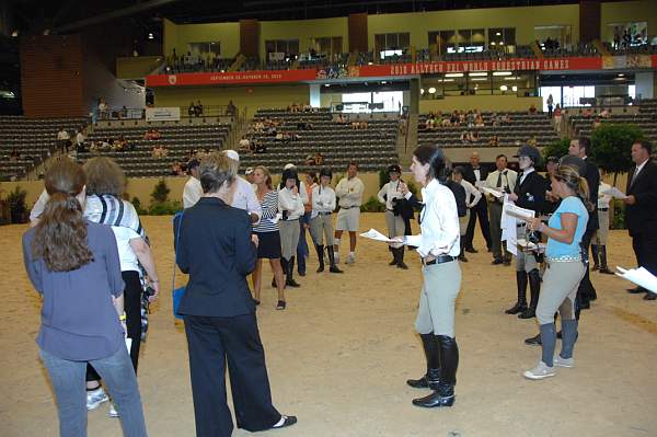
[[[199,168],[204,196],[185,210],[176,263],[189,274],[178,313],[185,318],[197,436],[229,437],[226,363],[238,427],[250,432],[297,422],[272,405],[255,304],[246,283],[257,258],[249,215],[230,206],[235,169],[212,153]]]

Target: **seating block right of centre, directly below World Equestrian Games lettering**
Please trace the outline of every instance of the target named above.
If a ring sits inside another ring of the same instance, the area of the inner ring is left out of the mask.
[[[427,115],[419,116],[418,142],[420,145],[440,145],[441,147],[491,147],[488,141],[496,135],[498,138],[497,147],[514,147],[523,145],[528,139],[535,137],[537,146],[543,147],[558,139],[558,136],[550,119],[545,114],[528,114],[526,112],[496,113],[497,115],[507,114],[510,117],[510,123],[502,126],[493,126],[492,117],[494,113],[482,113],[484,118],[484,127],[468,127],[468,126],[438,126],[434,130],[423,129]],[[463,131],[477,131],[479,141],[466,142],[461,141]]]

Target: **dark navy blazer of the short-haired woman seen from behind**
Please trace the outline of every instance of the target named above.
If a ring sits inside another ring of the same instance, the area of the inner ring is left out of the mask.
[[[255,268],[246,211],[215,197],[201,197],[182,217],[176,263],[189,274],[178,313],[235,317],[255,311],[246,275]]]

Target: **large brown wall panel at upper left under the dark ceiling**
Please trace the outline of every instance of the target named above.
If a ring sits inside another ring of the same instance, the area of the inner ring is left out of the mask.
[[[87,115],[79,35],[21,39],[21,90],[28,118]]]

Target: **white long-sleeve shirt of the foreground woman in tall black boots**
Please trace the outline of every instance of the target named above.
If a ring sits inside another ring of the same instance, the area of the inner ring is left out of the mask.
[[[453,193],[437,180],[431,180],[422,188],[422,198],[425,206],[419,214],[420,234],[412,238],[419,240],[417,252],[423,257],[459,256],[461,231]]]

